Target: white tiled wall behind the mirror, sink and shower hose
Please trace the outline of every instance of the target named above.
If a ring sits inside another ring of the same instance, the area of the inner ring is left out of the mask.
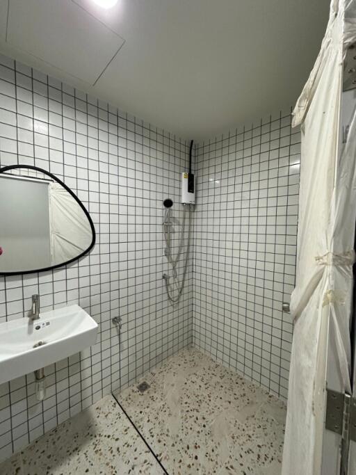
[[[0,460],[191,343],[193,257],[179,305],[168,303],[161,278],[168,271],[162,201],[172,198],[181,218],[188,145],[0,56],[1,166],[53,172],[81,198],[97,231],[79,262],[0,277],[0,322],[26,318],[39,293],[43,311],[79,303],[99,323],[95,346],[46,368],[43,402],[33,374],[0,386]],[[119,314],[120,339],[111,325]]]

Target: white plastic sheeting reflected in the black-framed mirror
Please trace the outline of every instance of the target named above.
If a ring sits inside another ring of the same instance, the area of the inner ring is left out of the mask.
[[[73,259],[88,249],[92,241],[86,214],[58,183],[49,186],[49,226],[52,265]]]

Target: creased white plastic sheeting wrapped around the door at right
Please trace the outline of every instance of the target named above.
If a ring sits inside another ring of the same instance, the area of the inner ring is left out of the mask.
[[[356,0],[333,0],[321,51],[293,112],[293,125],[301,125],[302,156],[283,475],[321,474],[329,328],[339,379],[350,392],[355,113],[341,156],[339,121],[343,58],[355,41]]]

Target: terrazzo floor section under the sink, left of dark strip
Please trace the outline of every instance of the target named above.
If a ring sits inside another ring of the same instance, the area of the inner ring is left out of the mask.
[[[0,464],[1,475],[161,475],[113,396],[106,396]]]

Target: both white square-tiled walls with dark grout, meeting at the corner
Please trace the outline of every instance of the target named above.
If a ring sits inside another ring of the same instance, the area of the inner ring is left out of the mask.
[[[39,293],[42,310],[79,303],[99,323],[95,346],[46,368],[43,402],[33,374],[0,386],[0,460],[192,340],[286,398],[292,323],[281,307],[295,275],[299,131],[285,111],[197,146],[194,248],[184,296],[172,307],[162,280],[162,201],[172,198],[181,220],[188,145],[0,56],[0,165],[58,175],[97,231],[79,262],[0,277],[0,322],[26,317]],[[111,324],[118,315],[120,337]]]

